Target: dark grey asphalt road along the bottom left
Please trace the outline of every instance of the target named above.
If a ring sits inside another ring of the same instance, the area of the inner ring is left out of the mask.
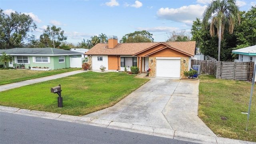
[[[1,144],[195,144],[110,128],[0,112]]]

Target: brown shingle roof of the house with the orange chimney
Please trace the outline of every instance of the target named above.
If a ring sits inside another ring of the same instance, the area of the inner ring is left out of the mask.
[[[108,48],[108,44],[96,44],[86,52],[86,55],[134,55],[142,50],[153,47],[161,42],[118,43],[114,48]],[[172,48],[190,55],[194,55],[196,42],[162,42]]]

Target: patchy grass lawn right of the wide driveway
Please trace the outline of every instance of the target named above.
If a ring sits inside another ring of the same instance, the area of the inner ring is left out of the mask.
[[[256,87],[254,86],[248,130],[246,130],[252,83],[200,76],[198,116],[216,134],[225,138],[256,142]],[[221,117],[227,120],[221,120]]]

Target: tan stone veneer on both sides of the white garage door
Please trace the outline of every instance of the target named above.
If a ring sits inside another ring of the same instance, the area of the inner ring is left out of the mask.
[[[152,62],[151,62],[152,60]],[[185,63],[183,61],[186,61]],[[183,72],[188,70],[189,58],[180,58],[180,78],[186,78]],[[151,69],[148,76],[156,77],[156,58],[149,57],[149,68]]]

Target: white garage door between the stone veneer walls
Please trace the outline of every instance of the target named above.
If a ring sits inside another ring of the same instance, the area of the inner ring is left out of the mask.
[[[157,59],[156,76],[180,78],[180,60]]]

